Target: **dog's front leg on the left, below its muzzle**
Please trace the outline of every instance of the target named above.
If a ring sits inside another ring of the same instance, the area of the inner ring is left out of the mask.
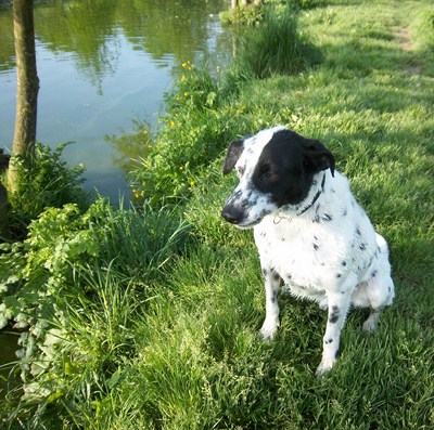
[[[260,335],[264,339],[272,339],[279,326],[278,292],[281,283],[280,276],[268,265],[263,265],[265,279],[265,321]]]

